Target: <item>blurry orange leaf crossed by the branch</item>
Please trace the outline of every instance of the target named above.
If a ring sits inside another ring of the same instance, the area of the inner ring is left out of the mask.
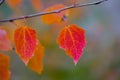
[[[53,10],[61,9],[63,7],[65,7],[65,5],[56,4],[56,5],[53,5],[51,7],[48,7],[44,11],[45,12],[50,12],[50,11],[53,11]],[[41,16],[41,19],[46,24],[54,24],[54,23],[61,22],[64,19],[65,16],[68,16],[68,10],[61,11],[60,13],[53,13],[53,14],[43,15],[43,16]]]

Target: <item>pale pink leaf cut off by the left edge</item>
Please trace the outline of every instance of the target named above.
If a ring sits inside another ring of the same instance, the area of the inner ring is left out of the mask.
[[[6,31],[3,29],[0,29],[0,50],[12,50],[11,42],[8,39]]]

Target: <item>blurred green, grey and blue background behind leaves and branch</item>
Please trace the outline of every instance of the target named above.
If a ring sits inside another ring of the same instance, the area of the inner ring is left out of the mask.
[[[17,5],[9,1],[0,6],[0,20],[42,12],[54,4],[72,4],[72,0],[20,0]],[[78,0],[78,3],[94,1],[97,0]],[[11,80],[120,80],[120,0],[71,10],[68,24],[83,27],[87,35],[87,46],[76,66],[56,42],[64,23],[47,25],[40,17],[26,20],[16,23],[26,22],[37,31],[45,47],[44,70],[41,75],[31,71],[13,50],[6,53],[11,57]],[[0,23],[0,26],[11,31],[16,27],[11,23]]]

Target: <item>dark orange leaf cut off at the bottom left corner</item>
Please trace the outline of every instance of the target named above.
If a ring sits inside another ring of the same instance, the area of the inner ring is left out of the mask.
[[[10,79],[9,65],[10,65],[9,57],[0,53],[0,80]]]

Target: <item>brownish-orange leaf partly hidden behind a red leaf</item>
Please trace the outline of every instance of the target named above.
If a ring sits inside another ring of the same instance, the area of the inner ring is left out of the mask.
[[[34,56],[29,60],[28,67],[37,72],[38,74],[42,73],[43,70],[43,57],[44,57],[44,48],[39,43],[35,49]]]

